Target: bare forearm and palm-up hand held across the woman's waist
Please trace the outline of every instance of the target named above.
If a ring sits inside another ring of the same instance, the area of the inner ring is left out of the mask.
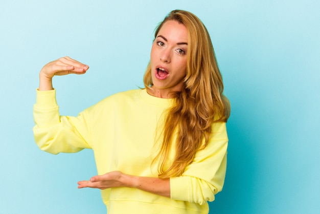
[[[79,181],[78,185],[78,188],[90,187],[99,189],[130,187],[170,198],[169,179],[132,176],[119,171],[94,176],[89,181]]]

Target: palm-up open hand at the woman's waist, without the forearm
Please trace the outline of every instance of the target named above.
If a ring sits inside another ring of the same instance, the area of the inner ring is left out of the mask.
[[[125,174],[119,171],[113,171],[101,176],[94,176],[89,181],[79,181],[78,188],[90,187],[98,189],[107,189],[112,187],[124,187]]]

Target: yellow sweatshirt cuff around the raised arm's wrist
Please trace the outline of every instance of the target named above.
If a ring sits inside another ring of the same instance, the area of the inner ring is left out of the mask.
[[[56,90],[39,91],[36,90],[35,107],[41,110],[50,110],[58,107],[56,100]]]

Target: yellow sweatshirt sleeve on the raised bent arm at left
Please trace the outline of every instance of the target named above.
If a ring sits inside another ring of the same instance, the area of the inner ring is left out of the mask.
[[[75,153],[91,148],[85,112],[77,117],[60,116],[56,91],[38,91],[33,106],[34,139],[42,151]]]

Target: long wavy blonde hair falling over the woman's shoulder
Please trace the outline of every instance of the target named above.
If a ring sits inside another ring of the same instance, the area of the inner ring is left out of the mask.
[[[208,144],[212,124],[226,122],[230,116],[230,103],[222,94],[222,77],[207,28],[194,14],[173,10],[158,25],[154,37],[168,20],[176,20],[188,29],[187,74],[182,91],[172,92],[175,102],[166,114],[162,145],[154,159],[159,160],[159,178],[180,176],[195,153]],[[144,84],[146,88],[153,85],[150,63]],[[175,157],[167,167],[174,136]]]

